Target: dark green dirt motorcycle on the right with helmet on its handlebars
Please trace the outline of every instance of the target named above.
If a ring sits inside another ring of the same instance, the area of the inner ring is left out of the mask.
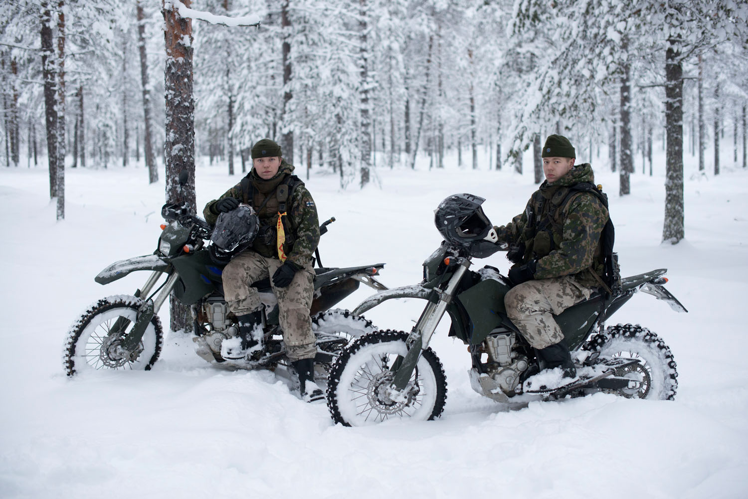
[[[465,197],[473,203],[471,209],[450,211],[450,203],[461,203]],[[327,388],[332,419],[345,426],[364,426],[393,418],[438,417],[447,399],[447,380],[429,342],[445,313],[452,322],[450,336],[468,346],[471,387],[506,408],[595,392],[673,399],[678,373],[663,340],[640,325],[604,325],[637,292],[686,312],[663,287],[666,269],[624,278],[616,292],[593,293],[555,316],[571,350],[577,378],[557,388],[543,390],[542,385],[530,391],[525,381],[533,375],[545,376],[545,371],[540,373],[542,361],[536,350],[506,315],[504,296],[512,282],[491,266],[470,270],[473,258],[507,248],[497,246],[497,235],[479,206],[482,202],[470,195],[444,200],[435,215],[444,241],[423,262],[423,281],[382,290],[353,310],[361,314],[390,299],[428,301],[409,333],[373,331],[340,352],[331,366]]]

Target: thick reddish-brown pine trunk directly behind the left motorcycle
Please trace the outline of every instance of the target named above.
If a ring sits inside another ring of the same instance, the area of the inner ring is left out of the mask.
[[[187,7],[190,0],[182,0]],[[166,201],[196,212],[194,192],[194,101],[192,99],[192,23],[180,16],[169,0],[163,0],[165,19],[166,70]],[[179,176],[187,173],[180,186]],[[171,296],[171,330],[192,331],[189,307]]]

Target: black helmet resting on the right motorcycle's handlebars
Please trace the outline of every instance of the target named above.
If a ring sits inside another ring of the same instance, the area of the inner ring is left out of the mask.
[[[480,205],[485,199],[471,194],[456,194],[439,203],[434,223],[447,242],[470,247],[474,242],[497,242],[496,231]]]

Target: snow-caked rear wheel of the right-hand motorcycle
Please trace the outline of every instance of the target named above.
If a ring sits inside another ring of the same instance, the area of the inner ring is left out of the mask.
[[[616,376],[636,382],[634,388],[622,388],[613,393],[634,399],[675,399],[678,371],[669,347],[657,334],[640,325],[614,325],[604,333],[595,334],[584,349],[600,352],[606,357],[633,358],[639,361]]]

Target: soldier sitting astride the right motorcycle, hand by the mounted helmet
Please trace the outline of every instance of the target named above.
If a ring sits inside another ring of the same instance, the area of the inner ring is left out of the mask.
[[[504,304],[509,319],[537,351],[546,369],[561,367],[576,375],[563,333],[552,314],[586,300],[601,286],[600,237],[607,208],[589,192],[570,192],[577,183],[594,183],[589,163],[574,165],[567,138],[551,135],[542,150],[546,180],[521,215],[496,227],[500,242],[510,245],[515,284]]]

